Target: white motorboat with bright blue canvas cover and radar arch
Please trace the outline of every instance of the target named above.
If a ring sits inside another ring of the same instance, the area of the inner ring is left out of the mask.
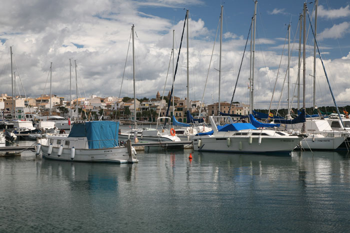
[[[212,132],[192,138],[195,151],[289,154],[303,138],[275,130],[257,130],[250,123],[233,123],[230,116],[210,116],[209,120]],[[220,126],[221,120],[229,123]]]

